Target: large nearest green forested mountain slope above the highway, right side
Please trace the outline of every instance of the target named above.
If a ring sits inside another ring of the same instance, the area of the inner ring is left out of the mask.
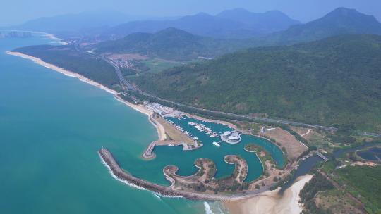
[[[377,35],[248,49],[131,80],[147,92],[201,108],[381,131]]]

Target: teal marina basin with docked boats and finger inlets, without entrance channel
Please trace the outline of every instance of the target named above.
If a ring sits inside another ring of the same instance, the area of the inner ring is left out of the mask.
[[[245,158],[248,163],[248,176],[246,177],[246,182],[253,181],[260,177],[263,172],[262,164],[255,153],[250,153],[245,151],[245,145],[249,143],[255,143],[263,148],[265,148],[277,161],[279,166],[284,164],[284,158],[282,150],[279,147],[272,144],[267,139],[262,139],[260,137],[254,137],[252,135],[241,135],[241,142],[239,144],[228,144],[222,141],[220,137],[209,137],[207,134],[203,132],[199,132],[195,127],[188,125],[188,122],[196,122],[202,123],[203,125],[211,128],[215,132],[223,133],[225,131],[231,131],[231,128],[217,124],[213,122],[204,122],[201,120],[196,120],[193,118],[184,117],[181,119],[176,118],[168,118],[176,125],[183,127],[183,129],[187,130],[192,134],[193,137],[198,137],[202,141],[202,146],[200,149],[196,149],[195,151],[181,151],[181,146],[178,148],[174,147],[162,147],[158,146],[155,148],[155,153],[157,154],[157,159],[164,162],[168,156],[171,156],[172,163],[174,165],[179,166],[179,174],[180,175],[191,175],[198,170],[193,165],[195,158],[210,158],[216,163],[217,173],[215,177],[225,177],[231,175],[234,170],[234,165],[228,164],[224,162],[224,156],[229,154],[238,154]],[[221,147],[214,146],[213,141],[219,142]],[[181,160],[181,162],[176,161]]]

